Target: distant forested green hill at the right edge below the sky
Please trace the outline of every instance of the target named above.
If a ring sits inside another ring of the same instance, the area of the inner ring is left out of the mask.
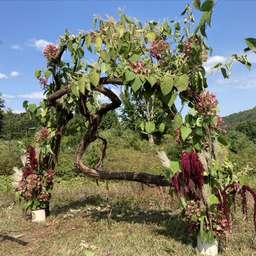
[[[232,126],[234,128],[239,125],[239,123],[248,119],[256,120],[256,106],[252,109],[222,117],[222,119],[225,121],[225,125],[228,125],[229,127]]]

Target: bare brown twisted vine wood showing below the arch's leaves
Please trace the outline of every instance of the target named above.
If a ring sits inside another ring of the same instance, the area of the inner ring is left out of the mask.
[[[98,87],[94,88],[91,87],[93,91],[98,91],[104,96],[108,97],[111,100],[111,103],[105,104],[104,106],[101,106],[101,108],[96,111],[94,114],[91,114],[88,108],[86,107],[86,96],[80,94],[79,95],[79,109],[82,115],[89,121],[89,127],[88,131],[84,134],[84,137],[77,145],[77,148],[74,153],[74,165],[82,172],[84,175],[95,178],[95,179],[107,179],[107,180],[125,180],[125,181],[135,181],[135,182],[141,182],[145,184],[152,184],[157,186],[171,186],[171,182],[168,181],[168,179],[165,178],[164,175],[152,175],[148,173],[141,173],[141,172],[107,172],[104,170],[99,170],[101,163],[103,161],[103,158],[105,156],[105,151],[107,147],[107,141],[104,138],[97,136],[97,130],[98,125],[101,121],[101,118],[104,114],[106,114],[108,111],[114,110],[121,105],[121,101],[118,98],[118,96],[112,92],[110,89],[104,87],[104,84],[113,84],[113,85],[122,85],[123,81],[122,78],[112,78],[111,80],[108,79],[108,77],[101,77],[100,78],[100,84]],[[144,84],[145,88],[153,88],[157,89],[160,87],[160,81],[157,81],[155,85],[152,87],[151,84],[146,82]],[[63,88],[58,88],[57,91],[54,93],[48,95],[48,104],[50,106],[54,106],[56,108],[59,108],[59,102],[58,99],[60,99],[65,94],[69,93],[71,90],[68,88],[68,86],[64,86]],[[195,101],[199,100],[199,95],[190,87],[186,89],[186,93],[189,95],[190,98],[192,98]],[[165,111],[171,115],[174,116],[174,113],[176,112],[175,106],[172,106],[172,108],[167,108],[167,106],[163,103],[163,107],[165,107]],[[58,140],[54,148],[54,157],[52,159],[52,167],[54,167],[57,159],[57,155],[59,153],[59,146],[60,146],[60,136],[61,132],[64,128],[64,126],[67,124],[67,122],[73,117],[71,113],[66,109],[63,110],[63,113],[65,114],[65,118],[60,124],[60,127],[58,128]],[[149,141],[152,142],[152,139],[149,138]],[[95,168],[88,167],[83,164],[81,161],[81,157],[84,154],[85,150],[88,148],[88,146],[94,142],[96,139],[102,140],[102,147],[101,152],[99,154],[98,163]],[[154,142],[154,140],[153,140]]]

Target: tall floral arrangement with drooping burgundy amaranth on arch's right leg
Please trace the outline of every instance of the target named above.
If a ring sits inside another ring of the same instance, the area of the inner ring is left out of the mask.
[[[217,104],[214,94],[203,92],[185,122],[181,116],[174,119],[175,140],[183,147],[180,164],[158,152],[172,183],[171,194],[179,198],[183,221],[190,232],[200,235],[201,242],[209,244],[231,233],[230,209],[233,205],[236,212],[236,195],[242,197],[242,210],[248,220],[246,192],[253,196],[256,231],[256,192],[243,182],[244,176],[241,183],[232,179],[229,143],[221,135],[226,126],[216,115]]]

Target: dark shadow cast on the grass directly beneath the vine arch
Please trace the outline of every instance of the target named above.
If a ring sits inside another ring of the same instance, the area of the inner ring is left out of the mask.
[[[195,237],[190,237],[189,232],[186,229],[185,223],[181,222],[180,213],[176,213],[175,210],[159,210],[159,209],[147,209],[140,206],[131,206],[129,199],[125,197],[121,200],[117,200],[111,203],[111,208],[103,207],[105,205],[105,199],[101,194],[94,194],[87,196],[83,200],[69,201],[65,205],[55,204],[51,208],[51,215],[58,216],[59,214],[66,213],[71,209],[82,209],[77,213],[82,218],[91,218],[94,222],[100,222],[102,219],[108,221],[108,214],[110,214],[111,221],[115,222],[128,222],[128,223],[146,223],[154,224],[152,232],[158,233],[179,241],[183,244],[192,244],[195,241]],[[83,211],[83,208],[89,211]],[[101,209],[94,209],[101,205]]]

